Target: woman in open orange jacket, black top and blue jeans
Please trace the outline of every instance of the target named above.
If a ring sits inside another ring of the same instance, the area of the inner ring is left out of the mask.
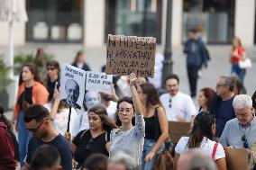
[[[32,135],[25,129],[23,121],[24,112],[32,104],[44,105],[48,102],[49,93],[38,76],[36,66],[32,63],[23,65],[21,73],[21,84],[17,94],[17,101],[14,109],[14,121],[17,120],[18,141],[20,145],[20,160],[23,160],[27,153],[28,142]]]

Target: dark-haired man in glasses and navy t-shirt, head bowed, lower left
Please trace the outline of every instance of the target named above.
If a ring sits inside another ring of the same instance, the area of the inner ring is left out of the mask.
[[[24,114],[25,128],[32,133],[32,139],[29,141],[26,164],[22,170],[30,168],[32,155],[36,148],[48,144],[59,150],[61,157],[61,166],[63,170],[72,169],[72,151],[69,141],[54,130],[50,121],[50,112],[39,104],[32,105]],[[43,161],[43,160],[41,160]]]

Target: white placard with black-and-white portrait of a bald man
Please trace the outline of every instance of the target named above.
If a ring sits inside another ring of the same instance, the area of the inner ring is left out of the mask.
[[[60,100],[70,106],[81,109],[84,95],[87,72],[64,64],[60,76]]]

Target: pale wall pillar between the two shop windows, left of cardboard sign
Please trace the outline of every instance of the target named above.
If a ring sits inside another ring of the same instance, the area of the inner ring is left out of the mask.
[[[85,0],[84,2],[84,45],[103,45],[105,36],[105,0]]]

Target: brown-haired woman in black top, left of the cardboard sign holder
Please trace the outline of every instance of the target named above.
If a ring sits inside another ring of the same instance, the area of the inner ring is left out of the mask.
[[[78,162],[77,168],[93,154],[104,154],[108,156],[106,139],[109,132],[116,128],[114,121],[107,116],[105,107],[96,104],[88,111],[89,130],[82,130],[72,141],[74,159]]]

